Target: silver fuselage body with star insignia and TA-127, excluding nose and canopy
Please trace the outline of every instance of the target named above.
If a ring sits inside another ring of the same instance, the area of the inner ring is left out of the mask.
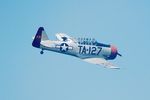
[[[66,50],[61,50],[62,44],[66,44]],[[41,41],[40,48],[42,50],[49,50],[67,55],[76,56],[79,58],[107,58],[111,54],[111,48],[101,47],[95,45],[84,45],[75,42],[64,42],[64,41]]]

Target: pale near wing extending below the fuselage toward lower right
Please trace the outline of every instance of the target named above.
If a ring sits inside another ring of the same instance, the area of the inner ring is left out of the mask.
[[[114,66],[113,64],[105,60],[104,58],[86,58],[86,59],[83,59],[83,61],[96,64],[96,65],[103,65],[106,68],[119,69],[119,67]]]

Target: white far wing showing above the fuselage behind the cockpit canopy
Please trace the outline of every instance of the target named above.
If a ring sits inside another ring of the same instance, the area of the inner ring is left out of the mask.
[[[70,42],[76,42],[76,40],[67,34],[64,33],[57,33],[56,37],[59,41],[70,41]]]

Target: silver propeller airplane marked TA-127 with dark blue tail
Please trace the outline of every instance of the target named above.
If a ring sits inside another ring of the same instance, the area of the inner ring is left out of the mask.
[[[85,62],[102,65],[110,69],[119,69],[108,60],[113,60],[118,56],[116,46],[97,42],[92,38],[73,38],[64,33],[56,34],[57,40],[49,40],[43,27],[39,27],[35,37],[33,37],[32,46],[44,50],[71,55],[82,59]]]

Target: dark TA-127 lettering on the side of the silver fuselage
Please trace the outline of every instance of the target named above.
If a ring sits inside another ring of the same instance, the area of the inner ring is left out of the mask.
[[[83,54],[83,55],[99,55],[102,47],[100,46],[82,46],[79,45],[79,54]]]

